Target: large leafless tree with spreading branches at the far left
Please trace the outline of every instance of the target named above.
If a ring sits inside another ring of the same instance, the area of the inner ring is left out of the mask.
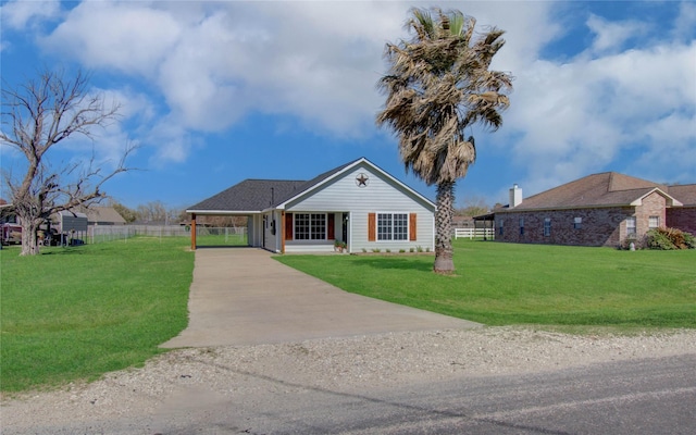
[[[126,145],[111,172],[102,172],[94,158],[87,162],[53,165],[48,151],[74,135],[94,139],[92,130],[117,117],[119,104],[107,107],[88,89],[88,75],[78,71],[67,78],[60,72],[42,71],[38,77],[16,87],[2,87],[2,129],[0,141],[26,158],[24,176],[14,178],[4,171],[14,212],[22,224],[22,256],[39,253],[37,231],[53,213],[89,207],[105,197],[102,185],[128,171],[126,157],[134,147]]]

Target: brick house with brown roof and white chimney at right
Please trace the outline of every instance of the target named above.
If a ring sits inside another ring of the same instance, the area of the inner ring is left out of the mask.
[[[477,219],[495,222],[498,241],[616,247],[659,226],[696,234],[696,184],[605,172],[529,198],[514,185],[508,206]]]

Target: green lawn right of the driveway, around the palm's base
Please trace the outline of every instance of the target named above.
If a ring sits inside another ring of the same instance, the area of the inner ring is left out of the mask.
[[[696,250],[458,240],[458,276],[427,256],[276,259],[347,291],[487,325],[696,327]]]

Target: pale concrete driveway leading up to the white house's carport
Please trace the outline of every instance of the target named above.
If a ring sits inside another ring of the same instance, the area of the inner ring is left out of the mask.
[[[477,323],[346,293],[256,248],[196,251],[189,324],[162,347],[301,341]]]

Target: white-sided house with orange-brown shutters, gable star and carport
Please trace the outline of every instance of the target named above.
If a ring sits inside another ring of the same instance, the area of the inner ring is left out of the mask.
[[[245,179],[186,210],[248,216],[249,246],[277,253],[434,249],[435,204],[364,158],[309,182]]]

